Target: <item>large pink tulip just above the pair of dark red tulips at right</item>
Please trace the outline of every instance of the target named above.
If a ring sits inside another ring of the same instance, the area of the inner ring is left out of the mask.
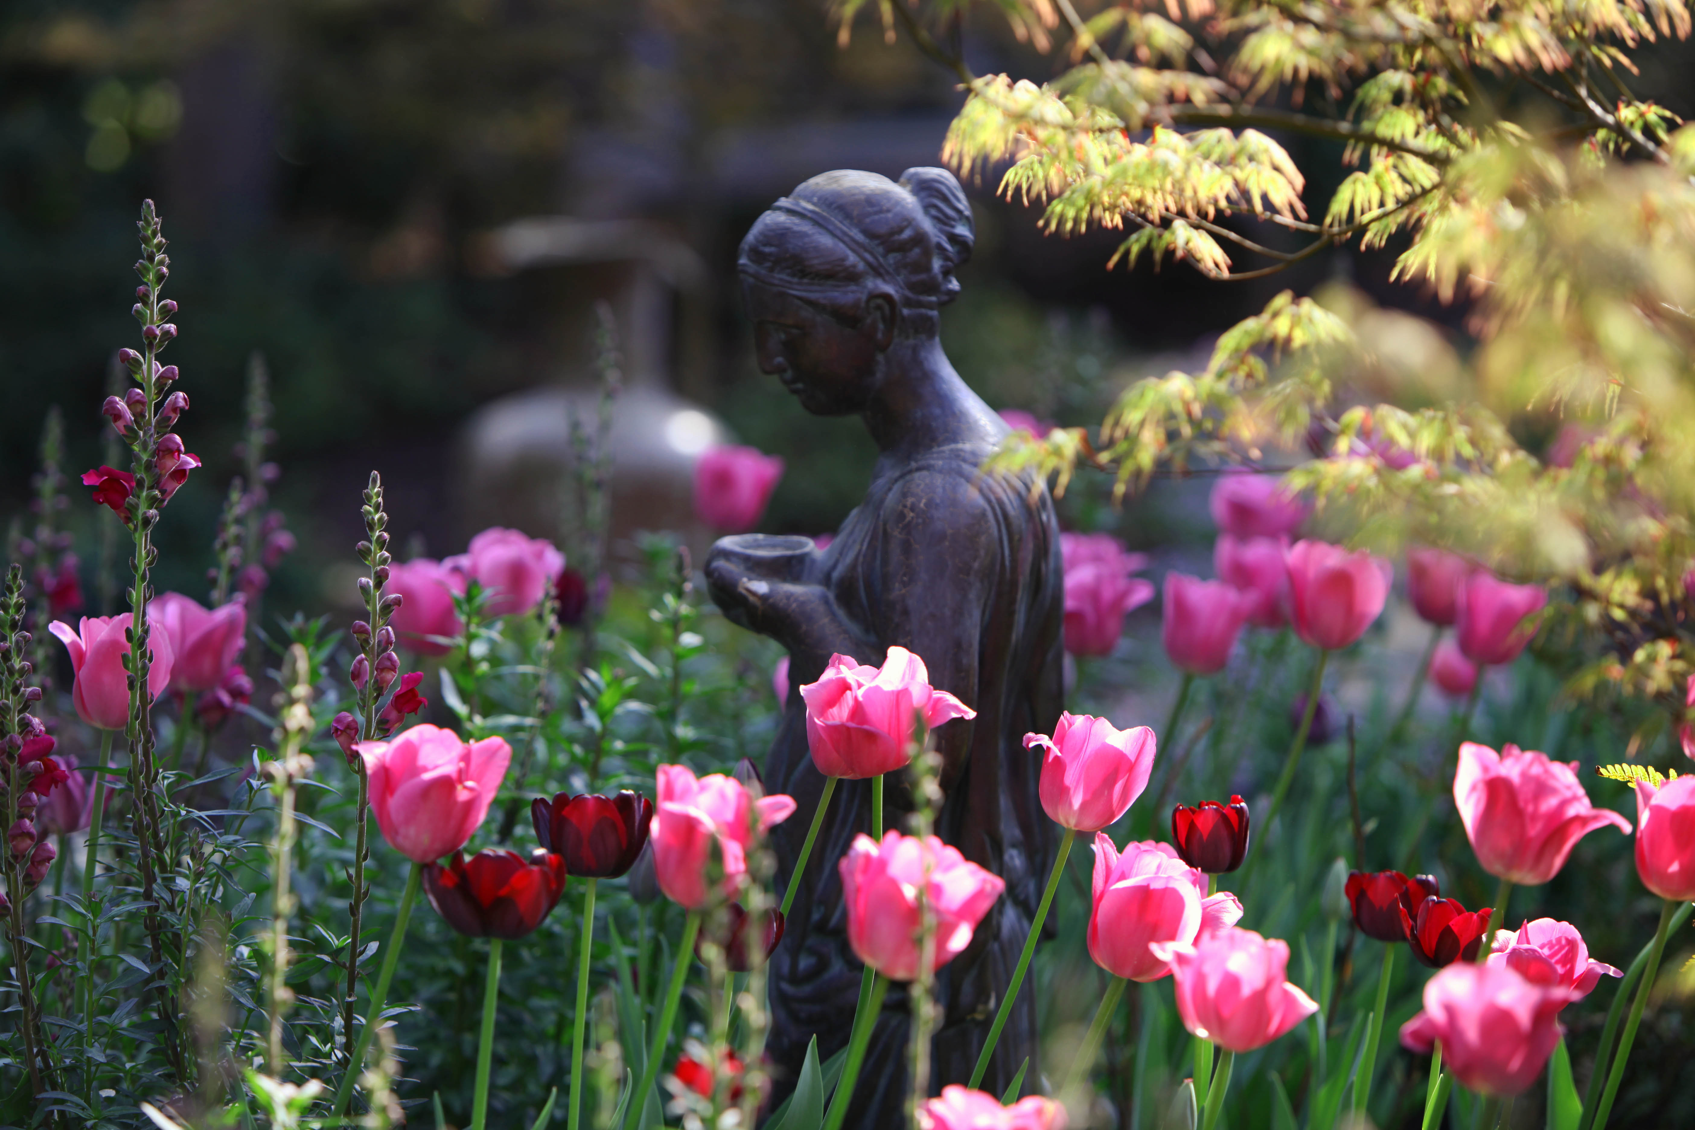
[[[1478,862],[1497,879],[1539,886],[1553,879],[1573,845],[1609,823],[1631,832],[1631,822],[1590,805],[1576,774],[1578,762],[1503,745],[1459,745],[1454,806]]]

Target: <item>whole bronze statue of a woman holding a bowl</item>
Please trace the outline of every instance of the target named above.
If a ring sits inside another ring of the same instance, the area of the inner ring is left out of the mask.
[[[971,208],[946,169],[890,181],[875,173],[814,176],[747,232],[737,263],[759,368],[807,412],[858,413],[880,456],[864,501],[822,552],[807,539],[724,539],[707,561],[725,615],[788,649],[790,686],[839,652],[880,666],[902,645],[931,684],[976,710],[936,730],[944,801],[936,832],[1007,881],[971,947],[941,969],[931,1093],[966,1083],[1000,1005],[1053,862],[1056,834],[1037,800],[1039,752],[1061,710],[1063,576],[1053,500],[1029,476],[985,474],[1007,425],[949,364],[939,308],[971,254]],[[848,945],[836,861],[870,832],[868,781],[836,791],[807,874],[800,844],[824,778],[807,751],[805,706],[790,690],[764,767],[766,788],[800,810],[775,830],[778,884],[798,883],[771,961],[773,1105],[795,1083],[807,1042],[846,1045],[861,964]],[[910,795],[888,781],[890,827]],[[902,1125],[909,1008],[890,991],[848,1125]],[[983,1088],[1000,1094],[1036,1064],[1036,994],[1025,986]]]

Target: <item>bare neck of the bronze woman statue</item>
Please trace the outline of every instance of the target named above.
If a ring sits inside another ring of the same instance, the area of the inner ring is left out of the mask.
[[[951,444],[995,444],[1005,430],[936,337],[893,342],[880,354],[878,368],[864,425],[885,457],[903,461]]]

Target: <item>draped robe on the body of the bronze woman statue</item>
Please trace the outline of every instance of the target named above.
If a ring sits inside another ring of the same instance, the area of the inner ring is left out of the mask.
[[[976,710],[936,730],[946,800],[936,832],[966,859],[1007,881],[1007,895],[978,927],[971,947],[937,974],[939,1027],[931,1093],[964,1084],[1029,932],[1056,849],[1058,830],[1037,798],[1041,751],[1024,735],[1051,734],[1063,696],[1064,584],[1053,500],[1027,476],[983,474],[986,446],[934,449],[873,481],[863,505],[814,564],[841,618],[861,640],[859,662],[880,666],[890,645],[915,652],[931,684]],[[764,783],[800,808],[775,837],[778,884],[792,881],[824,778],[807,752],[798,686],[829,656],[795,656],[793,688],[766,761]],[[900,828],[910,795],[886,783],[885,822]],[[837,861],[871,828],[870,781],[842,781],[773,956],[768,1049],[775,1103],[793,1088],[815,1033],[819,1059],[846,1047],[863,966],[848,945]],[[983,1088],[1000,1094],[1025,1057],[1025,1091],[1039,1079],[1036,994],[1019,994]],[[866,1052],[848,1127],[903,1125],[909,1001],[890,986]]]

